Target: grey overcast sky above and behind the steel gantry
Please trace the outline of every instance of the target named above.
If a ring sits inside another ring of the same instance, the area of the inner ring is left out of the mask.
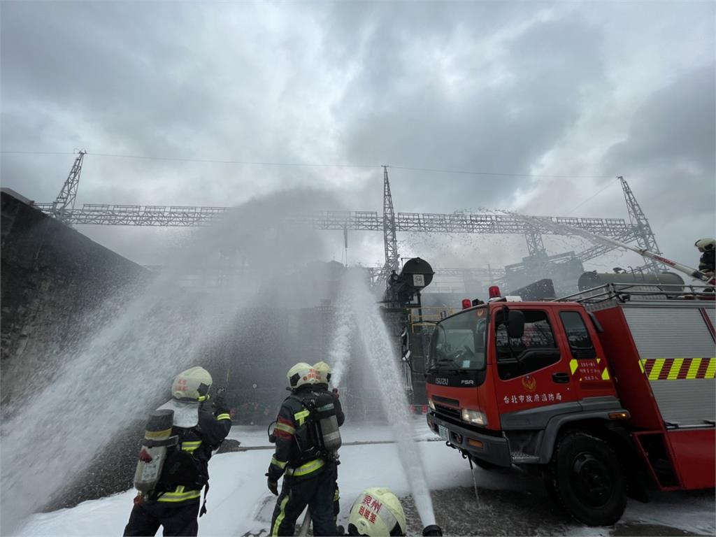
[[[86,148],[78,206],[236,205],[311,187],[334,195],[326,209],[382,211],[388,164],[399,212],[628,218],[624,175],[664,254],[696,265],[694,241],[716,234],[715,6],[3,1],[1,146]],[[1,157],[2,184],[37,201],[54,200],[73,160]],[[147,264],[185,233],[79,231]],[[435,265],[526,255],[521,237],[399,238]],[[349,261],[382,263],[380,234],[349,246]],[[591,266],[639,264],[619,259]]]

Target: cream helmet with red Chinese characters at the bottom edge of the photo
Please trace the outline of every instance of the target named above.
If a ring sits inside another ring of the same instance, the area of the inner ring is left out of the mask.
[[[405,535],[405,513],[390,488],[367,488],[353,503],[348,517],[349,535]]]

